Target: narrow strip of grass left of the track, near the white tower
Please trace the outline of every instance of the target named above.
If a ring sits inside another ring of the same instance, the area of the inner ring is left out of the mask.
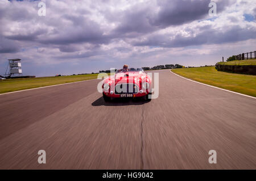
[[[85,81],[97,78],[98,74],[68,75],[61,77],[38,77],[0,80],[0,94],[61,83]]]

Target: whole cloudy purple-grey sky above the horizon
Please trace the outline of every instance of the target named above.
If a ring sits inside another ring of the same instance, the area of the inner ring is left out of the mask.
[[[24,75],[110,68],[214,65],[256,50],[255,0],[0,0],[0,74],[21,58]]]

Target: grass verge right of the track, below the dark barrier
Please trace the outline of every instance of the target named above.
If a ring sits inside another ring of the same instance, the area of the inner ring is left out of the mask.
[[[256,97],[256,75],[226,73],[217,71],[214,66],[172,71],[197,82]]]

